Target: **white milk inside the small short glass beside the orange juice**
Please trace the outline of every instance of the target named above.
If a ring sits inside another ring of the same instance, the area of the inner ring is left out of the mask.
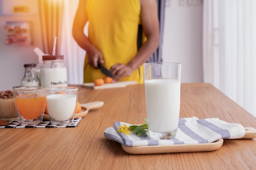
[[[56,121],[65,121],[72,117],[76,109],[76,95],[54,94],[46,97],[49,114]]]

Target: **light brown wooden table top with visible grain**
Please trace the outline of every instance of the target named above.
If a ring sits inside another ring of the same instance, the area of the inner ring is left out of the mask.
[[[0,169],[54,170],[252,170],[256,139],[227,139],[211,152],[132,155],[103,131],[114,121],[143,124],[144,85],[93,90],[79,86],[81,104],[103,101],[75,128],[0,128]],[[255,127],[256,118],[211,84],[182,84],[180,117],[215,118]]]

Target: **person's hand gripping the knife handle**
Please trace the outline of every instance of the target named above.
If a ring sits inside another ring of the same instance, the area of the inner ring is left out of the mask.
[[[91,66],[94,68],[98,68],[98,62],[101,64],[104,63],[103,55],[101,51],[99,51],[97,48],[93,48],[91,51],[88,51],[88,62]]]

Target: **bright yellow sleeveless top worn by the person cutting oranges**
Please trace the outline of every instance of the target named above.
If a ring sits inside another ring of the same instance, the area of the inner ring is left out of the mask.
[[[88,0],[89,39],[103,54],[103,66],[110,69],[116,63],[128,64],[137,53],[137,35],[140,20],[139,0]],[[106,77],[100,69],[88,64],[85,56],[83,82]],[[143,84],[143,65],[129,77],[120,81],[135,80]]]

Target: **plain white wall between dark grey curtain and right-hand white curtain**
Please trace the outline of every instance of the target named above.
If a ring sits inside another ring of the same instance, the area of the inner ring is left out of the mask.
[[[183,5],[180,2],[184,2]],[[189,1],[189,0],[188,0]],[[182,64],[183,83],[203,82],[202,14],[203,4],[170,0],[165,9],[163,62]]]

